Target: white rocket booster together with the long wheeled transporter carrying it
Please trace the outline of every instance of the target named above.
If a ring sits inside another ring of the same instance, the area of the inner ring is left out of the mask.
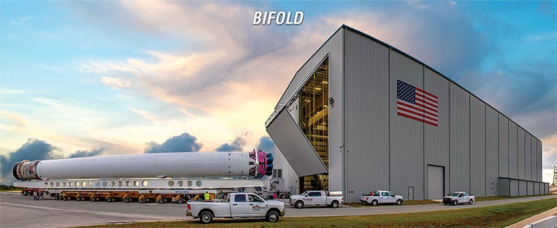
[[[179,152],[20,161],[14,186],[43,188],[56,199],[107,202],[154,200],[183,203],[199,193],[212,197],[261,189],[273,171],[273,154]]]

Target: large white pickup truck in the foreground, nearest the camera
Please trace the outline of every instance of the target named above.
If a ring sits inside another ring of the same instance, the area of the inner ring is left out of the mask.
[[[284,203],[278,200],[265,200],[253,193],[229,193],[227,199],[189,201],[185,214],[208,223],[213,218],[266,218],[277,222],[284,213]]]

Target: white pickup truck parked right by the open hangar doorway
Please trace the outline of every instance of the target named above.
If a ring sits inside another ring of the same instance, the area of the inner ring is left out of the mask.
[[[300,195],[291,195],[289,204],[296,206],[297,209],[306,205],[326,205],[337,208],[343,200],[342,191],[307,190]]]

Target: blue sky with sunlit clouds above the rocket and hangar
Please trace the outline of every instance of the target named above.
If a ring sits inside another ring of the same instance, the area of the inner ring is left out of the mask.
[[[303,11],[253,25],[255,11]],[[272,148],[264,123],[342,24],[487,101],[557,161],[556,1],[0,1],[0,183],[13,163]]]

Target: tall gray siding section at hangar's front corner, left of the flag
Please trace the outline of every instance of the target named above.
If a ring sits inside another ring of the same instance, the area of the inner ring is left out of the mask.
[[[388,97],[389,88],[396,88],[389,86],[389,49],[352,31],[345,38],[345,196],[354,202],[370,190],[388,189],[390,179],[404,179],[389,178]]]

